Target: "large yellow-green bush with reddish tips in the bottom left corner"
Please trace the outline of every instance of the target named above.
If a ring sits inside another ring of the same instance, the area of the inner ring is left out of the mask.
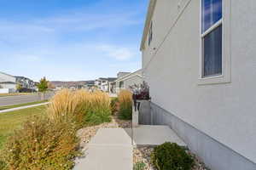
[[[32,117],[9,137],[0,158],[8,169],[60,169],[73,167],[79,139],[71,122]]]

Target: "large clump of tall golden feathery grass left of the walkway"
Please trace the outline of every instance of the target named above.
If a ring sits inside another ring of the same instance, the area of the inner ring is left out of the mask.
[[[79,127],[97,125],[110,121],[110,98],[99,91],[63,89],[50,100],[47,113],[53,120],[73,120]]]

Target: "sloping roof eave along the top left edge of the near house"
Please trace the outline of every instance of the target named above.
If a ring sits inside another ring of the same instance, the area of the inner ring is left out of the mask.
[[[153,14],[154,14],[154,8],[155,8],[156,1],[157,0],[150,0],[150,3],[148,5],[148,14],[147,14],[147,19],[146,19],[144,30],[143,30],[143,39],[142,39],[141,47],[140,47],[141,51],[144,48],[144,44],[145,44],[146,38],[148,36],[148,28],[150,26],[150,21],[152,19]]]

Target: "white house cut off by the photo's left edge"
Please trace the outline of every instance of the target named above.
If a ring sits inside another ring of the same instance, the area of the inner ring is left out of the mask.
[[[9,94],[16,91],[16,79],[15,77],[0,72],[0,94]]]

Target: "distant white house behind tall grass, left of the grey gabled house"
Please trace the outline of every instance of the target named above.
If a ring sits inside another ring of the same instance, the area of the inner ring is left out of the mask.
[[[95,81],[95,86],[102,90],[103,92],[112,92],[113,91],[113,82],[117,78],[108,77],[108,78],[99,78]]]

